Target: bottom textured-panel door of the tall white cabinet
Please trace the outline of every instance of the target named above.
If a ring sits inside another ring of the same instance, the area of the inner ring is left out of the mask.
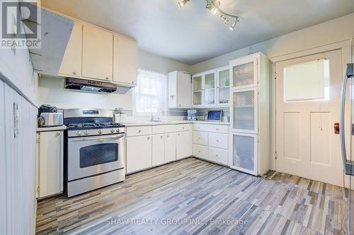
[[[232,168],[257,175],[257,135],[232,133]]]

